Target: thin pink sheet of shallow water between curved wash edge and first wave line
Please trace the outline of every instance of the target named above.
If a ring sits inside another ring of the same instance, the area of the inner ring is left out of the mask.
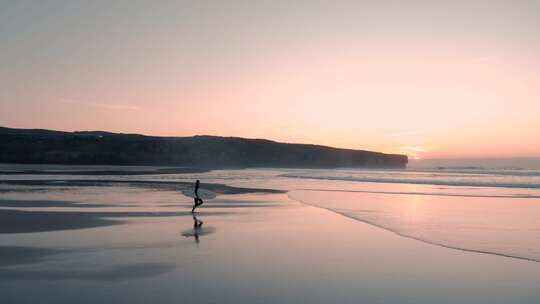
[[[540,199],[292,191],[291,198],[398,235],[540,261]]]

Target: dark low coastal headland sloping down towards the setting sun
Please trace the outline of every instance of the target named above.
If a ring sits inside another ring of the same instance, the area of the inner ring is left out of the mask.
[[[204,168],[403,168],[407,156],[264,139],[0,127],[0,163]]]

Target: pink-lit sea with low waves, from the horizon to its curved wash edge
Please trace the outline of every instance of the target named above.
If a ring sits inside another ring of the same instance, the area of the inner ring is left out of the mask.
[[[283,169],[222,170],[197,177],[239,187],[287,190],[297,201],[432,244],[540,261],[540,189],[527,188],[540,181],[538,172]],[[349,175],[384,175],[395,179],[407,176],[410,182],[375,183],[342,178]],[[423,179],[431,176],[439,182],[459,179],[472,184],[504,180],[504,183],[522,183],[524,187],[414,183],[418,176]]]

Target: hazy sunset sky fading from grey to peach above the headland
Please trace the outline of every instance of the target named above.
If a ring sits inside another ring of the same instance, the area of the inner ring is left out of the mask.
[[[0,126],[540,156],[540,1],[0,0]]]

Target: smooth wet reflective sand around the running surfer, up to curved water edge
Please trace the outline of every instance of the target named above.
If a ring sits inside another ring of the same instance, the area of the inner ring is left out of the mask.
[[[175,191],[108,186],[6,195],[25,205],[12,202],[0,214],[114,225],[0,233],[2,303],[540,299],[540,263],[425,244],[281,193],[220,195],[198,209],[198,232],[192,201]],[[58,197],[80,206],[32,203]]]

